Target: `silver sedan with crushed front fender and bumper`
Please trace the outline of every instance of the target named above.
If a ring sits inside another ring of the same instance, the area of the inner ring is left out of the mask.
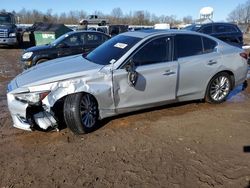
[[[192,45],[190,45],[192,44]],[[14,126],[76,134],[98,120],[173,102],[221,103],[247,78],[247,55],[214,37],[148,30],[115,36],[89,53],[45,62],[8,85]]]

